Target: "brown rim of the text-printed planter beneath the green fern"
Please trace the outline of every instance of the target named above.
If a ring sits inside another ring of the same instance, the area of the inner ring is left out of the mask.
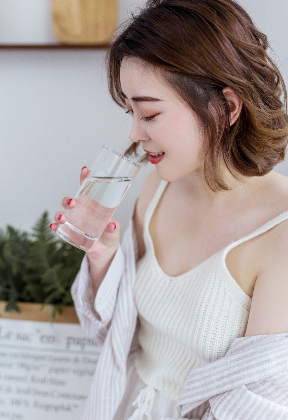
[[[53,305],[45,305],[40,310],[41,303],[30,303],[30,302],[17,302],[17,306],[21,312],[17,311],[5,311],[7,302],[0,301],[0,318],[14,319],[14,320],[26,320],[26,321],[45,321],[49,322],[53,310]],[[73,306],[63,306],[62,314],[55,315],[53,322],[67,322],[73,324],[79,324],[79,320]]]

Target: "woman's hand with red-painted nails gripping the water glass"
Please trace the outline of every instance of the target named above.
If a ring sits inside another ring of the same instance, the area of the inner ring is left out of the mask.
[[[89,176],[89,169],[84,166],[81,169],[80,173],[80,185],[84,181],[84,179]],[[73,209],[76,205],[76,200],[71,197],[64,197],[61,201],[62,207],[65,210]],[[50,228],[52,231],[56,232],[57,228],[60,224],[65,223],[66,214],[65,212],[58,211],[54,215],[54,220],[56,223],[51,223]],[[97,260],[102,255],[111,255],[111,253],[115,254],[118,249],[120,242],[120,223],[117,220],[110,220],[107,224],[105,230],[103,231],[102,235],[100,236],[99,240],[95,242],[95,245],[92,251],[87,252],[87,257],[89,260]]]

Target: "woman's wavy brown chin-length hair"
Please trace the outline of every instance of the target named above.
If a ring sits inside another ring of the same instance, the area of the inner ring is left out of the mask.
[[[240,180],[238,174],[262,176],[284,160],[288,142],[285,83],[267,53],[267,36],[241,5],[233,0],[148,0],[131,12],[118,31],[105,57],[113,100],[126,108],[120,85],[124,57],[160,70],[200,117],[202,164],[212,191],[230,190],[223,162]],[[243,101],[232,126],[222,92],[226,86]],[[139,158],[139,145],[133,143],[124,155]],[[148,154],[138,162],[148,162]]]

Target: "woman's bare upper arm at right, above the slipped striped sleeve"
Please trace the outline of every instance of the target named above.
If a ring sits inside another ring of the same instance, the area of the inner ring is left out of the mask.
[[[275,228],[257,275],[245,336],[288,332],[288,221]]]

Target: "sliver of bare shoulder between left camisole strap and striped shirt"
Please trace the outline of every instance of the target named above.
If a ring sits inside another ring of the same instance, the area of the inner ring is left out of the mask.
[[[138,257],[141,258],[145,253],[145,246],[143,241],[144,216],[151,202],[158,185],[162,178],[157,175],[156,170],[147,175],[142,184],[140,195],[136,202],[135,212],[133,216],[134,228],[136,231],[138,241]]]

